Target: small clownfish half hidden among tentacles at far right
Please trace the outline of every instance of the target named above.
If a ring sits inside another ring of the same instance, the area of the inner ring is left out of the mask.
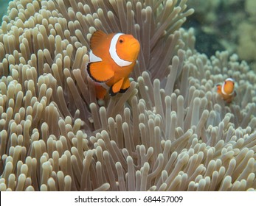
[[[222,85],[217,85],[217,93],[219,93],[227,103],[232,102],[236,96],[235,82],[232,78],[227,78]]]

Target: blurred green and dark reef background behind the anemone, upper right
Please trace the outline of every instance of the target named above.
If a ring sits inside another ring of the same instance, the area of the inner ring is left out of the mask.
[[[196,29],[196,49],[211,56],[215,51],[237,53],[256,71],[256,1],[188,1],[196,12],[184,26]]]

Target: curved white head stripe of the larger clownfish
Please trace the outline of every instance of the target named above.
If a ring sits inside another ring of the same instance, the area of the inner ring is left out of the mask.
[[[110,47],[109,47],[109,54],[112,58],[112,60],[114,60],[114,62],[119,65],[119,66],[127,66],[127,65],[131,65],[132,62],[129,62],[129,61],[125,61],[125,60],[122,60],[120,57],[118,57],[117,55],[117,40],[118,38],[121,36],[121,35],[124,35],[122,33],[117,33],[116,35],[114,35],[114,37],[112,38],[111,40],[111,43],[110,43]]]

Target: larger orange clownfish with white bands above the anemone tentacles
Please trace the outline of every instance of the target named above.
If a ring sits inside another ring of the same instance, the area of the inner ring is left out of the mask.
[[[105,34],[96,31],[91,35],[87,73],[95,82],[97,99],[103,99],[106,89],[114,96],[130,87],[129,74],[136,64],[140,44],[132,35]]]

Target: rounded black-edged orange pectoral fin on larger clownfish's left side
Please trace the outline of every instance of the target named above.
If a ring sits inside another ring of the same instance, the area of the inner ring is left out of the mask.
[[[114,77],[111,65],[104,62],[88,63],[87,72],[95,82],[106,82]]]

